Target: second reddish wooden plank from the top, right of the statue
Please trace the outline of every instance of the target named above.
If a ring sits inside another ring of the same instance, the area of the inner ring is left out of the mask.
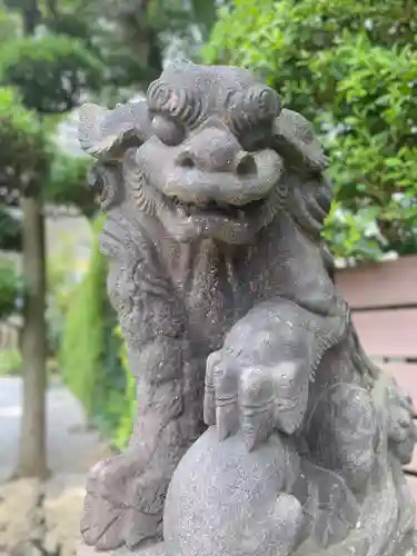
[[[358,311],[353,320],[371,357],[417,358],[417,308]]]

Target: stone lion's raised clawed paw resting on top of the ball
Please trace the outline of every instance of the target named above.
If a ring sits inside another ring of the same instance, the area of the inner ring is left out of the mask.
[[[308,401],[305,367],[297,361],[248,365],[229,349],[215,351],[207,359],[206,424],[217,426],[220,440],[240,429],[248,450],[275,429],[294,434]]]

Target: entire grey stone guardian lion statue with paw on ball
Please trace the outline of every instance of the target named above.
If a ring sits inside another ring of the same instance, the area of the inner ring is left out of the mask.
[[[138,381],[128,449],[88,479],[86,544],[411,554],[413,407],[329,278],[310,125],[247,70],[182,63],[141,102],[86,105],[80,141]]]

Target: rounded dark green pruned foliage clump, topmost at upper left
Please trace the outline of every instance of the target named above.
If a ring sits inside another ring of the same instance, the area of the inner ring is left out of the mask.
[[[82,91],[99,87],[103,71],[80,41],[63,34],[18,39],[0,50],[2,85],[16,87],[23,105],[42,115],[78,106]]]

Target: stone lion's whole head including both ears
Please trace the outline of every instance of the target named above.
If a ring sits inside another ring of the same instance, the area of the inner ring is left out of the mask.
[[[103,209],[127,201],[178,241],[250,241],[286,203],[291,172],[317,181],[327,166],[310,123],[241,68],[168,66],[146,101],[81,112]]]

